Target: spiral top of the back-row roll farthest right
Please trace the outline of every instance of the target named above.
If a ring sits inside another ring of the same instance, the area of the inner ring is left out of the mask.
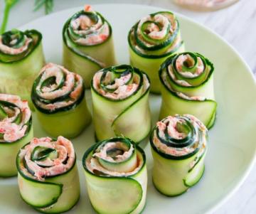
[[[162,11],[142,18],[129,32],[129,43],[141,55],[162,57],[174,52],[183,44],[176,16]]]

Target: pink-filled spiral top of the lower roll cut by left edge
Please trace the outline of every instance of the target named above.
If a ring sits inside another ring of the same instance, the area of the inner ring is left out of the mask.
[[[31,123],[27,101],[16,95],[0,94],[0,143],[11,143],[26,136]]]

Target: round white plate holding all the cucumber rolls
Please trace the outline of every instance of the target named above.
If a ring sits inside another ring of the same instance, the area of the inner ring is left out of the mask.
[[[102,4],[93,6],[107,18],[114,31],[118,63],[129,63],[127,33],[129,28],[145,16],[159,9],[129,4]],[[61,11],[22,26],[23,30],[36,28],[43,33],[43,48],[48,62],[61,63],[63,23],[81,8]],[[188,193],[167,198],[158,193],[151,183],[152,159],[146,146],[149,186],[144,213],[206,213],[223,203],[250,171],[256,151],[256,83],[250,68],[228,43],[207,28],[178,15],[186,50],[206,55],[215,65],[215,95],[218,118],[209,133],[206,172],[201,181]],[[90,103],[90,92],[87,92]],[[161,98],[151,95],[151,113],[154,123],[159,114]],[[46,134],[35,119],[35,137]],[[95,143],[92,124],[80,137],[73,140],[80,169],[81,198],[69,213],[94,213],[85,191],[85,178],[81,164],[85,150]],[[16,178],[0,179],[1,213],[36,213],[23,203],[18,193]]]

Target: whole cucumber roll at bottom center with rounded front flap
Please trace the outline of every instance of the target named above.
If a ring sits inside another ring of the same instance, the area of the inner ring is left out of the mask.
[[[132,140],[115,137],[88,149],[82,164],[97,213],[142,213],[146,202],[146,156]]]

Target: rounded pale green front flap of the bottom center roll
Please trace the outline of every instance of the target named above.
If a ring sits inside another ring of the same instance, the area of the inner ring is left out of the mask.
[[[86,172],[85,176],[87,191],[97,213],[132,213],[142,200],[142,186],[132,178],[102,179]]]

